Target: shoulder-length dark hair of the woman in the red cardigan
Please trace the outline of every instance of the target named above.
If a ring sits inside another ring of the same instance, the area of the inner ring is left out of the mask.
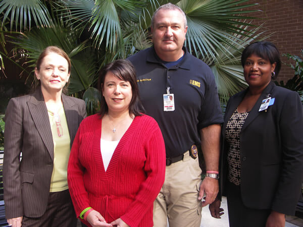
[[[141,116],[144,112],[144,108],[139,99],[139,89],[137,85],[137,75],[136,70],[132,63],[128,60],[116,60],[108,65],[106,65],[100,72],[98,79],[98,89],[102,93],[104,88],[105,76],[107,73],[111,72],[119,80],[128,81],[131,85],[132,97],[129,103],[129,115]],[[102,95],[102,100],[100,102],[99,115],[104,116],[108,113],[109,107]]]

